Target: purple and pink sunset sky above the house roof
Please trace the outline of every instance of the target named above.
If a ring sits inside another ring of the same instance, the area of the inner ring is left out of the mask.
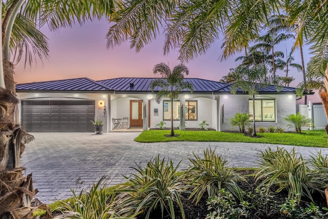
[[[109,24],[107,21],[97,21],[84,26],[76,25],[72,28],[60,29],[56,32],[44,33],[49,38],[50,58],[26,67],[20,63],[15,68],[15,81],[17,83],[30,83],[39,81],[51,81],[55,79],[89,77],[94,80],[115,77],[156,77],[152,73],[154,65],[158,63],[169,64],[171,68],[178,65],[177,52],[163,55],[163,36],[157,37],[139,53],[130,49],[128,43],[114,49],[106,48],[106,33]],[[290,46],[290,45],[289,45]],[[220,62],[221,42],[216,42],[202,55],[186,66],[190,73],[188,77],[198,77],[218,81],[223,75],[227,75],[230,68],[237,67],[235,55],[228,61]],[[285,45],[279,48],[285,51]],[[290,48],[288,48],[290,50]],[[299,51],[294,52],[297,63]],[[309,61],[308,55],[305,63]],[[278,74],[283,75],[282,72]],[[296,86],[301,81],[301,73],[293,71],[290,76],[296,80],[291,86]]]

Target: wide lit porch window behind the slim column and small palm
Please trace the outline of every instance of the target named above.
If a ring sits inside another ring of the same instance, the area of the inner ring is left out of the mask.
[[[197,120],[197,101],[185,102],[186,120]],[[163,101],[163,120],[171,120],[171,101]],[[180,120],[180,101],[173,101],[173,120]]]

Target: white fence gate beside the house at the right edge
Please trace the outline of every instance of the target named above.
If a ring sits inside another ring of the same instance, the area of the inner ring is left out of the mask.
[[[324,129],[328,124],[323,105],[313,105],[310,101],[308,105],[296,105],[296,112],[311,118],[314,124],[314,127],[302,128],[304,130]]]

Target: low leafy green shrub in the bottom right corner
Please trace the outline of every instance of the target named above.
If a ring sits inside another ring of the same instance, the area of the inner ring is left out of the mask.
[[[328,209],[323,208],[326,212],[323,213],[318,206],[314,203],[306,203],[305,209],[298,205],[299,201],[297,197],[286,198],[285,203],[281,204],[280,212],[286,218],[316,218],[316,219],[325,219],[328,215]]]

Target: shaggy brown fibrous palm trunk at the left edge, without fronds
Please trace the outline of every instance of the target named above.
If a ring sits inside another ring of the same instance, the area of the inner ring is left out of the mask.
[[[15,122],[19,101],[15,95],[13,64],[3,61],[3,66],[7,89],[0,87],[0,218],[32,218],[36,208],[47,210],[46,218],[51,218],[46,205],[31,207],[37,190],[33,189],[32,175],[22,174],[25,168],[20,167],[20,157],[33,136]]]

